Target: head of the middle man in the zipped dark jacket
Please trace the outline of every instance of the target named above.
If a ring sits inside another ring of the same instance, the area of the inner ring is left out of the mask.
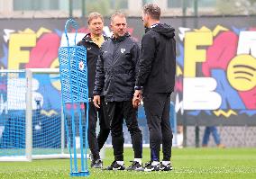
[[[122,37],[126,33],[127,22],[123,13],[114,13],[111,16],[110,28],[115,38]]]

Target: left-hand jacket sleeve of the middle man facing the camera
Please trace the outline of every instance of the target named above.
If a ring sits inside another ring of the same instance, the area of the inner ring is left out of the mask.
[[[96,81],[95,81],[95,88],[94,88],[94,95],[101,95],[104,88],[104,80],[105,80],[105,71],[104,71],[104,64],[102,58],[102,52],[99,55],[97,62],[96,62]]]

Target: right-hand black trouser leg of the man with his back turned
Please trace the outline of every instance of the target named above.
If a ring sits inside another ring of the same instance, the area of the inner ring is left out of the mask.
[[[171,157],[172,147],[172,130],[169,123],[169,109],[170,108],[170,96],[166,94],[164,109],[161,118],[161,132],[162,132],[162,153],[163,161],[169,161]]]

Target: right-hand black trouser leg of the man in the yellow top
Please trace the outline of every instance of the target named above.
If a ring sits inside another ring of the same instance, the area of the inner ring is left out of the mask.
[[[105,113],[105,100],[104,97],[101,97],[101,106],[98,109],[98,118],[100,130],[97,135],[98,150],[100,151],[103,148],[106,139],[108,138],[110,132],[110,124],[108,115]]]

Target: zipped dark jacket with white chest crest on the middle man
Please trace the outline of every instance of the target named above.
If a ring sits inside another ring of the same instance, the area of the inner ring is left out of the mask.
[[[128,33],[106,40],[96,64],[94,94],[104,92],[105,102],[133,99],[139,56],[140,48]]]

